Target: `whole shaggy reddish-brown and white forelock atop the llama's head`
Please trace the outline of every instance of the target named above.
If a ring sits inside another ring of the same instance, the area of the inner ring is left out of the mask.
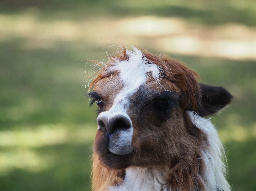
[[[137,47],[127,49],[125,46],[119,46],[119,48],[120,50],[115,54],[107,56],[107,62],[99,63],[102,69],[90,84],[89,91],[99,80],[115,73],[119,73],[124,81],[133,83],[135,87],[141,85],[141,82],[146,83],[145,78],[153,77],[154,82],[161,87],[163,87],[161,83],[166,81],[171,82],[173,87],[178,87],[183,109],[189,104],[192,111],[198,110],[197,100],[201,96],[201,91],[197,82],[199,78],[197,73],[167,54],[153,55]],[[176,88],[173,89],[177,91]]]

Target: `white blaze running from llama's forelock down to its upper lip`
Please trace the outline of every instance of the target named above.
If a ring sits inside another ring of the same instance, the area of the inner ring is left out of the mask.
[[[129,57],[128,61],[115,61],[109,69],[109,71],[119,71],[124,88],[116,95],[110,110],[100,113],[97,118],[97,120],[102,118],[112,120],[116,116],[122,116],[130,122],[130,128],[117,130],[109,135],[109,150],[117,155],[125,155],[132,152],[133,126],[130,117],[127,115],[130,97],[138,91],[140,86],[145,85],[150,75],[153,76],[157,83],[160,74],[159,67],[156,64],[148,63],[142,52],[137,48],[134,48],[134,52],[127,51],[126,54]]]

